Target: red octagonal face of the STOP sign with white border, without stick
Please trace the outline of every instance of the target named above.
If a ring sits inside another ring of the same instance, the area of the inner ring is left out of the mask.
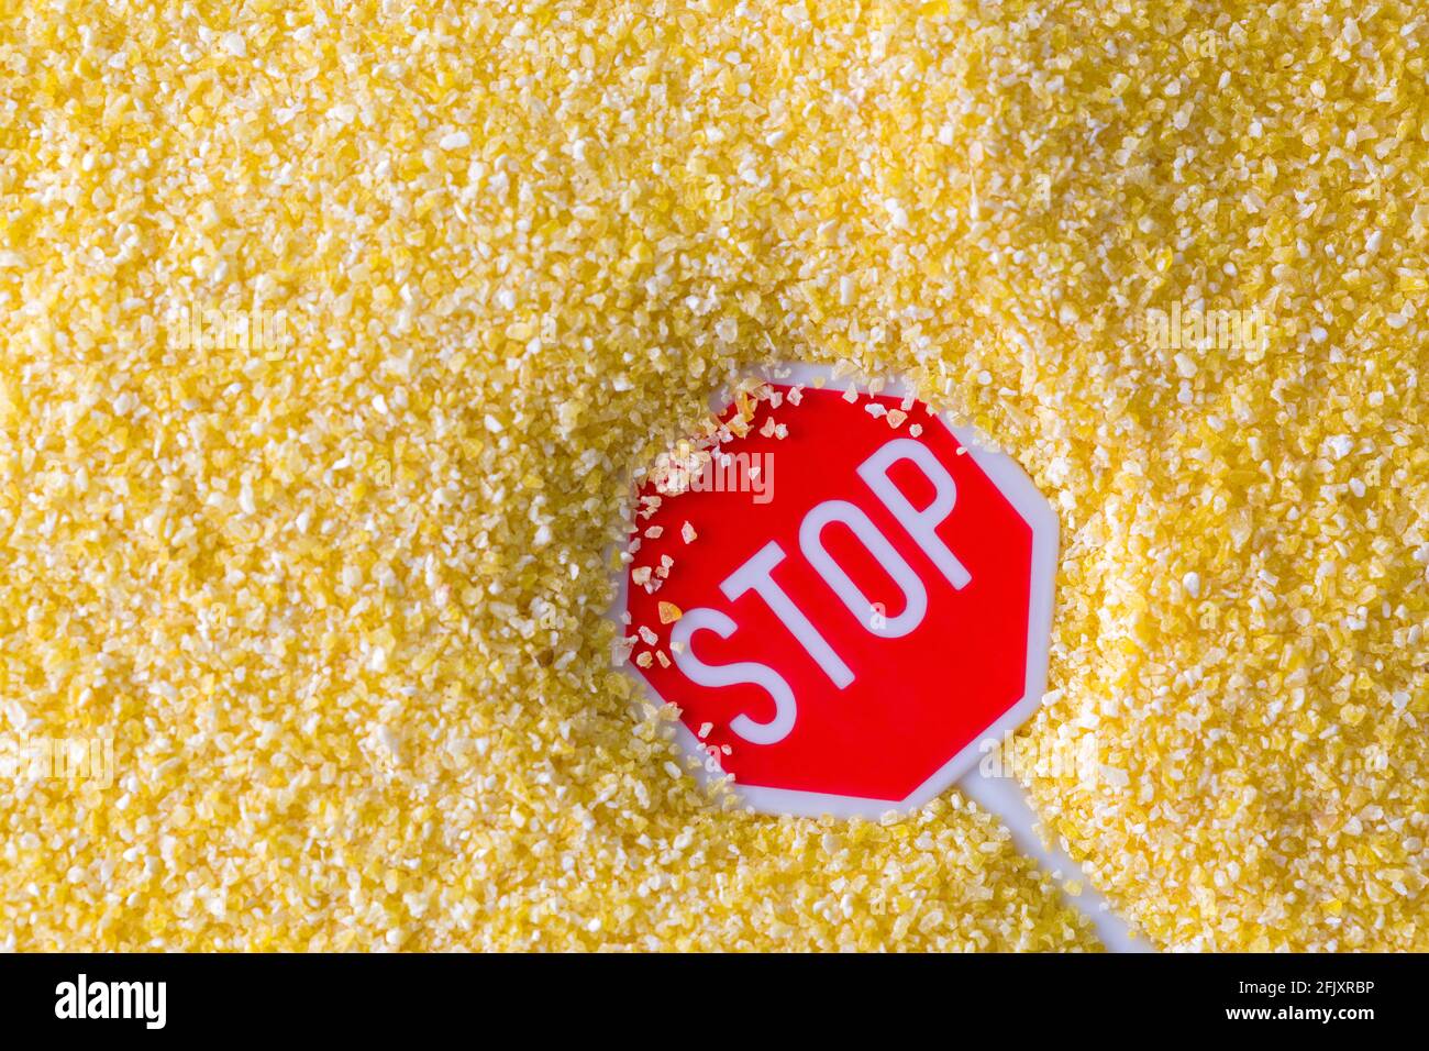
[[[1040,702],[1056,515],[897,392],[779,380],[720,419],[639,492],[620,658],[756,809],[922,805]]]

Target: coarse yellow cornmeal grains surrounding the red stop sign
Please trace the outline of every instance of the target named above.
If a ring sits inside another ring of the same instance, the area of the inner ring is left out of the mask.
[[[1059,509],[1030,788],[1152,944],[1429,948],[1429,20],[1149,7],[7,4],[0,736],[113,784],[0,792],[0,942],[1095,948],[630,714],[627,472],[807,359]]]

